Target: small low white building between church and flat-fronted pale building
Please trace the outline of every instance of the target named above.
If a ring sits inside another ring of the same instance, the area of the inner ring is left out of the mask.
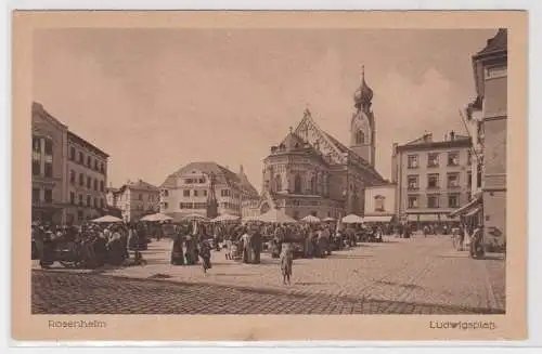
[[[393,183],[365,187],[365,222],[390,222],[396,215],[396,188]]]

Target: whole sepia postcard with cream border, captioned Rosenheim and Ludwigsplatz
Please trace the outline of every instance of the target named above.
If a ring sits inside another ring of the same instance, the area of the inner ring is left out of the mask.
[[[12,337],[526,339],[527,28],[15,11]]]

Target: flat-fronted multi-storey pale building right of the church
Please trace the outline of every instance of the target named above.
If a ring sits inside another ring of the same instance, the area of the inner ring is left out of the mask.
[[[448,221],[450,212],[470,199],[470,137],[453,131],[443,141],[426,133],[404,145],[393,144],[396,214],[418,225]]]

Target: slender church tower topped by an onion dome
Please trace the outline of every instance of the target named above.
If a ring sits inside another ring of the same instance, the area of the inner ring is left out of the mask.
[[[373,90],[365,82],[365,70],[361,68],[361,84],[353,95],[356,112],[350,122],[350,149],[375,165],[375,123],[371,104]]]

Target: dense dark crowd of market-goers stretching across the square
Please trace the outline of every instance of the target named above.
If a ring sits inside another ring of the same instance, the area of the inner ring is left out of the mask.
[[[166,227],[169,232],[165,232]],[[423,233],[434,232],[424,227]],[[141,251],[150,237],[172,239],[171,265],[201,264],[211,268],[211,250],[224,249],[227,260],[247,264],[261,262],[261,253],[272,258],[325,258],[335,250],[356,247],[360,241],[383,241],[384,235],[411,237],[408,224],[375,223],[370,226],[327,223],[83,223],[80,226],[57,226],[33,223],[33,258],[42,267],[55,261],[74,266],[98,267],[103,264],[144,264]],[[166,235],[167,234],[167,235]],[[287,262],[285,264],[288,264]],[[288,268],[283,266],[283,268]],[[286,272],[287,274],[288,272]],[[286,280],[285,280],[286,281]]]

